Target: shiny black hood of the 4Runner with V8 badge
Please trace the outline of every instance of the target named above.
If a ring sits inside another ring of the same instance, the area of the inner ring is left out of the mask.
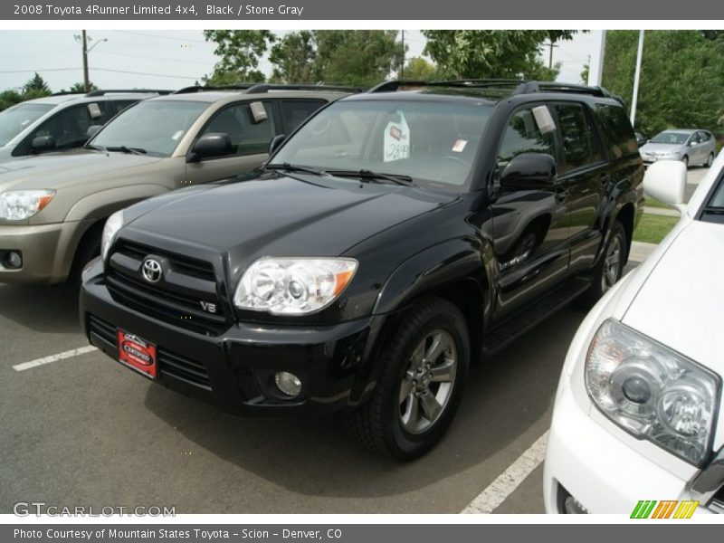
[[[303,176],[264,176],[182,190],[131,206],[121,236],[151,246],[194,245],[228,252],[233,268],[264,255],[337,256],[352,245],[456,195],[412,187]]]

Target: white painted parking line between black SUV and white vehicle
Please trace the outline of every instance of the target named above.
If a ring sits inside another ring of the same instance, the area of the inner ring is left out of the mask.
[[[543,462],[546,457],[546,443],[548,443],[548,431],[538,437],[536,443],[530,445],[529,449],[511,463],[505,472],[500,473],[488,488],[462,510],[462,513],[491,513],[495,510],[540,465],[540,462]]]

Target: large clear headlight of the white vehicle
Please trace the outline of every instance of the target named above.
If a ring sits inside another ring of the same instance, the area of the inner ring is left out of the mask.
[[[586,357],[586,389],[624,430],[687,462],[710,451],[719,405],[719,376],[609,319]]]

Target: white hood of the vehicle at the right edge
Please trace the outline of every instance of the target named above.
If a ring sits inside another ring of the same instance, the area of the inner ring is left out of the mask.
[[[724,225],[691,221],[643,281],[624,324],[724,376]]]

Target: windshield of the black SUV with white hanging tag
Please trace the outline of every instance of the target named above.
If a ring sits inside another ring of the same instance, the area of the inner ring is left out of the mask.
[[[432,100],[342,100],[304,125],[270,165],[332,175],[367,170],[461,191],[491,110]]]

